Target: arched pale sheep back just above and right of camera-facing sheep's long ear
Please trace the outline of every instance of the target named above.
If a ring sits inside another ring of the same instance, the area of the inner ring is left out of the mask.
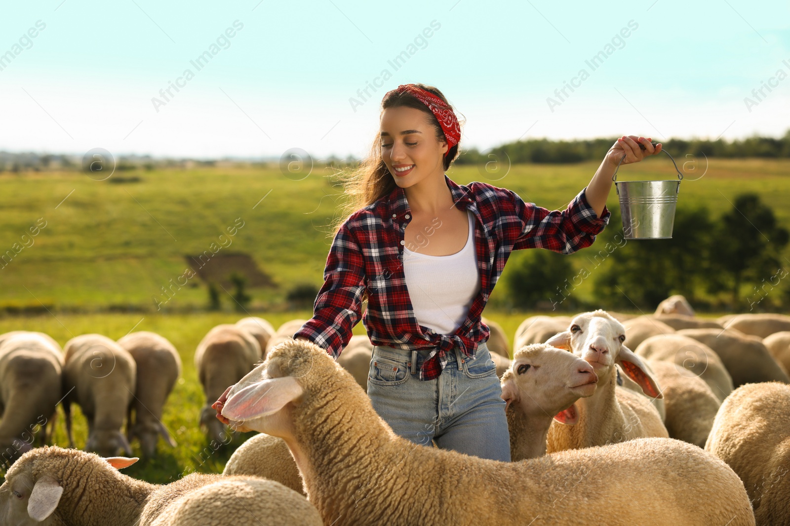
[[[683,375],[699,376],[713,394],[723,401],[732,393],[732,377],[719,355],[702,343],[683,334],[659,334],[642,341],[634,353],[649,360],[664,360],[683,367]]]

